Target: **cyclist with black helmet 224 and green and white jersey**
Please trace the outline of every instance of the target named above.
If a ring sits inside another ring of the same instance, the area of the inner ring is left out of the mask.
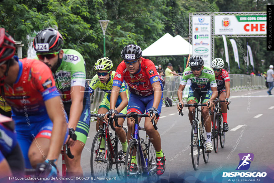
[[[74,158],[65,156],[67,171],[72,176],[83,176],[81,154],[90,127],[90,97],[85,61],[78,51],[62,49],[63,37],[52,28],[39,32],[33,45],[39,60],[48,65],[53,73],[69,117],[70,138],[77,140],[71,147]]]

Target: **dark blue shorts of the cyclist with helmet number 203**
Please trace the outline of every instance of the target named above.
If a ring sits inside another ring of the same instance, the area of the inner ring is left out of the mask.
[[[201,103],[205,103],[211,98],[211,95],[212,95],[211,88],[201,90],[200,88],[195,88],[190,86],[187,102],[190,100],[194,100],[195,102],[199,103],[201,98],[202,100]]]

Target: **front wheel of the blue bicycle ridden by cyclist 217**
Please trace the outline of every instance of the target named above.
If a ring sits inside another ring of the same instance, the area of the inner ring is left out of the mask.
[[[135,139],[133,139],[130,141],[125,155],[125,182],[133,183],[144,181],[144,176],[142,175],[143,166],[141,165],[140,152],[137,151],[139,151],[137,147],[137,142]],[[130,172],[130,166],[133,156],[136,156],[136,169]]]

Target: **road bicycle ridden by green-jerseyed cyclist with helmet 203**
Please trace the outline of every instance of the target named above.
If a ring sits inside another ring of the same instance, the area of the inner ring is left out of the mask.
[[[180,103],[179,105],[180,105],[180,108],[182,108],[182,104]],[[198,108],[200,106],[207,106],[207,104],[198,104],[198,103],[184,104],[184,107],[194,107],[193,109],[194,114],[193,114],[192,128],[191,128],[191,143],[190,143],[191,161],[192,161],[192,166],[194,170],[198,169],[200,154],[203,154],[203,159],[205,163],[208,162],[208,158],[209,158],[209,152],[205,152],[206,132],[204,127],[204,118],[201,115],[201,123],[199,123],[199,118],[198,118],[199,114],[201,113],[201,109]],[[180,111],[180,114],[183,115],[182,110]],[[194,133],[195,128],[197,129],[196,133]],[[196,142],[193,141],[194,138],[196,138]]]

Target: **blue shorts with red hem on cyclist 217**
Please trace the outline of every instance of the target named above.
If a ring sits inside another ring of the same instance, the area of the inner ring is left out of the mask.
[[[154,94],[151,94],[147,97],[142,97],[140,95],[131,93],[129,103],[128,103],[127,114],[131,112],[135,112],[138,114],[144,114],[144,112],[148,113],[149,109],[152,108],[153,101],[154,101]],[[163,104],[163,92],[162,92],[160,103],[157,108],[157,112],[159,116],[161,114],[162,104]]]

